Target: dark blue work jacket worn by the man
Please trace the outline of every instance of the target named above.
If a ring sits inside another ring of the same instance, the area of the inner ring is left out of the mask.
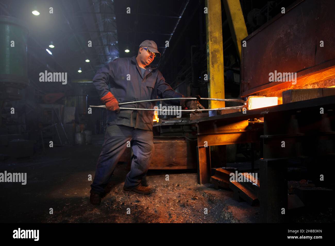
[[[108,85],[110,84],[111,89]],[[119,103],[157,99],[178,98],[182,94],[174,91],[165,82],[162,73],[150,65],[146,68],[144,76],[135,56],[131,58],[117,58],[102,67],[93,78],[93,85],[100,98],[109,91],[116,97]],[[180,105],[180,100],[167,100],[166,103]],[[156,102],[142,102],[135,104],[123,104],[126,108],[153,108]],[[152,130],[153,112],[149,110],[120,109],[119,113],[107,110],[107,123],[124,125],[144,130]]]

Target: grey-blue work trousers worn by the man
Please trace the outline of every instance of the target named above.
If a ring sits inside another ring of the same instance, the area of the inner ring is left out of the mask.
[[[127,141],[130,141],[133,156],[131,170],[126,176],[124,186],[133,189],[140,185],[154,153],[152,131],[123,125],[108,125],[90,193],[104,194],[104,189],[110,182],[119,159],[126,148],[129,148]]]

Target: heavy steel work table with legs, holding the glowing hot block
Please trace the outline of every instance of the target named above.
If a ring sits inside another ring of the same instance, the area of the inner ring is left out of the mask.
[[[320,113],[320,108],[324,113]],[[334,158],[335,96],[280,104],[216,115],[190,123],[198,124],[198,183],[208,183],[211,174],[207,146],[252,143],[263,140],[260,159],[259,190],[261,222],[282,222],[287,211],[287,159],[312,156],[327,162]],[[248,123],[248,119],[264,117],[264,128]],[[285,147],[282,147],[282,142]],[[317,146],[316,146],[317,145]]]

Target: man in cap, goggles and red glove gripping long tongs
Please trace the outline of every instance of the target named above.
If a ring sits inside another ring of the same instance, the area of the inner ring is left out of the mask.
[[[150,194],[151,188],[142,186],[141,180],[147,173],[153,157],[153,115],[151,110],[128,110],[119,108],[119,103],[157,99],[183,98],[165,82],[161,72],[150,66],[154,58],[161,54],[152,40],[145,40],[138,49],[137,56],[117,58],[102,67],[93,78],[93,85],[101,101],[107,108],[107,127],[102,151],[97,161],[96,171],[90,190],[90,202],[101,203],[106,195],[108,183],[114,169],[127,147],[131,146],[131,170],[126,176],[123,189],[140,194]],[[110,84],[110,89],[108,85]],[[205,109],[194,99],[168,100],[169,104],[182,109],[194,109],[192,113]],[[185,97],[187,98],[187,97]],[[128,108],[151,108],[155,102],[123,104]]]

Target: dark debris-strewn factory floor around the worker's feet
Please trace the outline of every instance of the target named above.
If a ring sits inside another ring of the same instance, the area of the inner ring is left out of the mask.
[[[118,164],[110,192],[99,206],[89,190],[103,136],[92,145],[47,148],[31,159],[0,163],[0,172],[26,172],[27,183],[2,183],[0,222],[45,223],[231,223],[257,222],[259,207],[233,200],[232,191],[199,185],[196,170],[149,170],[149,195],[122,189],[126,163]],[[165,175],[169,174],[169,181]],[[51,208],[53,214],[50,214]],[[130,214],[127,214],[127,209]],[[208,214],[204,214],[207,209]]]

